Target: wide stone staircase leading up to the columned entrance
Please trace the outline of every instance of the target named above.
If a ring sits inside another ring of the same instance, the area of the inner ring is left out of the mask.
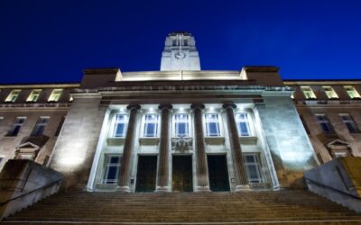
[[[245,193],[56,193],[3,223],[361,224],[361,213],[303,190]]]

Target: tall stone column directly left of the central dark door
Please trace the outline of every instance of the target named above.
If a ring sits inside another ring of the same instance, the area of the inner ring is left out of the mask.
[[[158,107],[162,112],[161,142],[159,148],[158,179],[156,192],[169,192],[169,145],[170,145],[170,103],[162,103]]]

